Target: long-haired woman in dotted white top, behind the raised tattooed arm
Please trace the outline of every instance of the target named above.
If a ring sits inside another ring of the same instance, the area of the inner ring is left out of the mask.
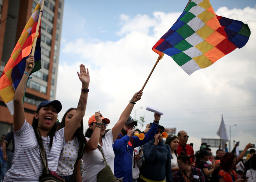
[[[71,118],[76,114],[76,108],[70,108],[64,114],[61,121],[61,128],[64,128]],[[63,146],[61,156],[59,158],[57,175],[66,182],[81,182],[80,173],[81,157],[83,155],[86,139],[83,135],[83,119],[76,129],[73,136],[69,139],[66,145]]]

